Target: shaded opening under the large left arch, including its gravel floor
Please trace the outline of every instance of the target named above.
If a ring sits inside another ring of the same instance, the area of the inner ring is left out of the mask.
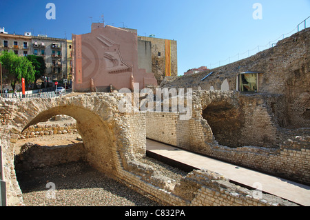
[[[43,121],[59,114],[70,115],[76,120],[83,147],[79,143],[79,146],[48,147],[28,143],[25,149],[29,147],[32,155],[24,154],[23,157],[33,160],[28,161],[28,165],[36,168],[19,173],[15,166],[17,181],[27,184],[20,186],[26,206],[158,206],[112,179],[110,174],[116,172],[114,135],[107,121],[94,112],[70,106],[51,108],[38,114],[23,130],[38,123],[43,126],[46,123]],[[56,135],[45,138],[55,140]],[[73,159],[70,161],[68,157]]]

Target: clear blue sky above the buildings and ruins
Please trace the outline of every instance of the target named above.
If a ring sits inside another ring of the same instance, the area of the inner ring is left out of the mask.
[[[56,6],[54,20],[45,17],[47,3]],[[262,6],[262,19],[253,18],[254,3]],[[1,0],[0,8],[0,26],[9,33],[71,39],[72,33],[90,32],[91,22],[102,22],[103,14],[105,24],[134,28],[142,36],[174,39],[179,75],[267,49],[269,42],[276,43],[282,34],[289,37],[310,16],[310,0]]]

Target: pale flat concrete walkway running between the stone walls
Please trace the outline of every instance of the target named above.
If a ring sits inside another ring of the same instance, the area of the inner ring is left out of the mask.
[[[206,170],[219,172],[231,181],[251,188],[258,188],[254,183],[260,183],[263,192],[293,201],[301,206],[310,206],[310,186],[187,152],[149,139],[147,139],[147,152],[154,154],[156,157],[178,161],[192,168],[205,168]]]

